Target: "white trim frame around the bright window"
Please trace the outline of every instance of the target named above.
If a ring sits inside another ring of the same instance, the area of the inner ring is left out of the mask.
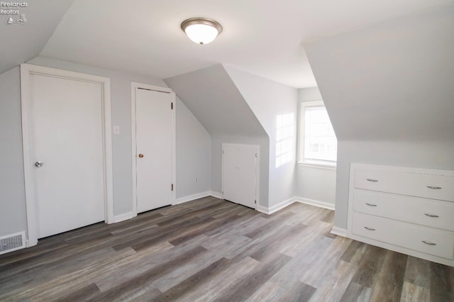
[[[306,167],[319,167],[321,169],[336,169],[336,162],[326,161],[326,160],[305,160],[304,159],[304,125],[305,125],[305,116],[307,107],[316,107],[323,106],[325,104],[323,101],[302,101],[301,108],[299,111],[299,135],[298,135],[298,164]],[[326,108],[326,107],[325,107]]]

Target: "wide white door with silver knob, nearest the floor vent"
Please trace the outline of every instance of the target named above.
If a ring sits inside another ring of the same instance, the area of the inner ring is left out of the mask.
[[[104,220],[101,84],[31,74],[30,100],[38,238]]]

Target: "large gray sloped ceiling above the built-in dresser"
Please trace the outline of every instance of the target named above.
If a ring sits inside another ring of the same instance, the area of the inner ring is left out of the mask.
[[[305,45],[338,140],[454,140],[454,4]]]

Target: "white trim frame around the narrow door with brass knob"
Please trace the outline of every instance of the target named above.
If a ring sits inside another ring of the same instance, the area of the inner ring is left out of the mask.
[[[136,116],[135,116],[135,90],[138,88],[151,89],[157,91],[169,92],[172,96],[173,110],[172,110],[172,205],[176,204],[176,111],[177,101],[175,92],[169,87],[154,86],[150,84],[143,84],[138,82],[131,82],[131,158],[132,158],[132,180],[133,180],[133,217],[137,216],[137,140],[136,140]]]

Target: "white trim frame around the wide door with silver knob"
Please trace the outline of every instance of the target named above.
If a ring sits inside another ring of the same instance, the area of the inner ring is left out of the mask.
[[[102,116],[103,124],[103,155],[104,155],[104,220],[114,223],[114,189],[112,172],[112,132],[111,132],[111,80],[92,74],[70,72],[31,64],[21,65],[21,117],[22,117],[22,146],[23,172],[26,193],[27,247],[38,244],[38,221],[35,209],[35,184],[33,179],[33,144],[32,144],[32,111],[31,111],[31,74],[72,79],[77,81],[101,84],[102,87]]]

